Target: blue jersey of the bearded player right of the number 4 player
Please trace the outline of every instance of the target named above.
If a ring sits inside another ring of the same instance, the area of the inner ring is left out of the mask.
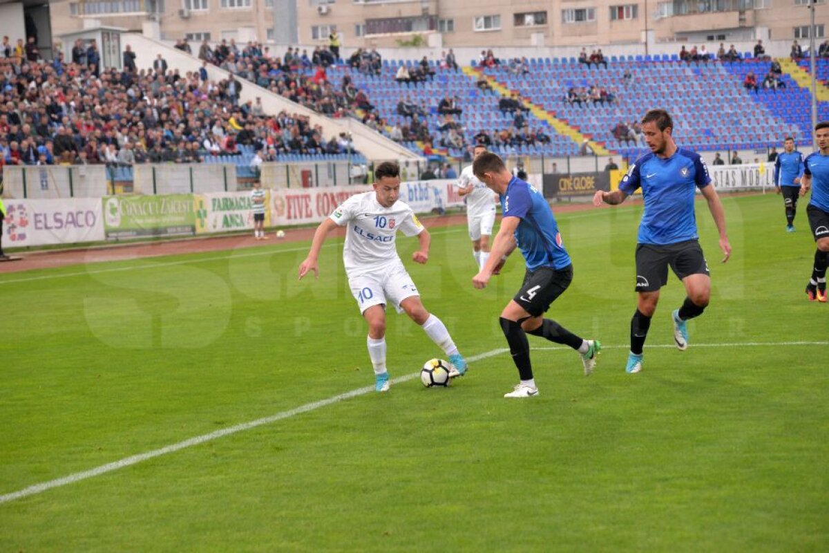
[[[642,187],[645,212],[639,223],[639,244],[667,245],[696,240],[696,188],[711,182],[700,155],[677,148],[670,158],[647,153],[630,166],[619,189],[633,194]]]

